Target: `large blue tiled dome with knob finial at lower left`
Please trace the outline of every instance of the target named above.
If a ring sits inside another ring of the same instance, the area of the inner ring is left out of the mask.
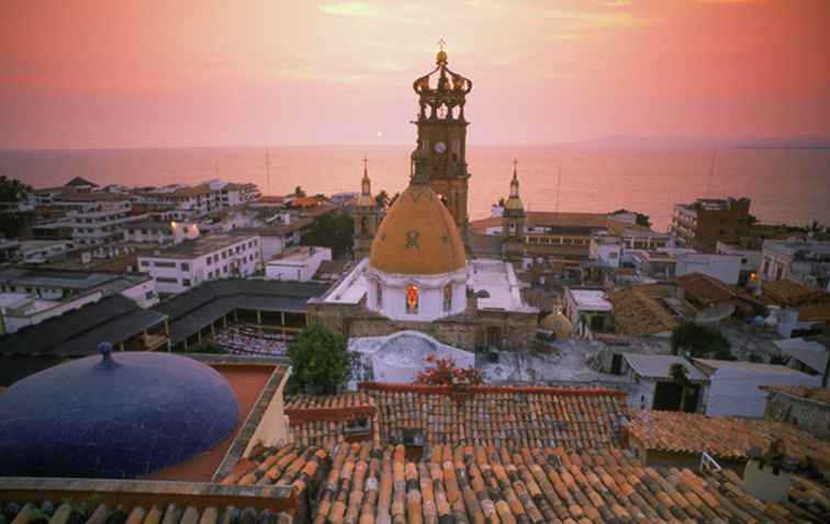
[[[239,405],[215,369],[168,353],[110,351],[0,394],[0,476],[131,478],[231,434]]]

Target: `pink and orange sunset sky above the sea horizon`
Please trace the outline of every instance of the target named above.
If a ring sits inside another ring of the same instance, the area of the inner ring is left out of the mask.
[[[441,37],[479,144],[830,136],[829,0],[4,0],[0,148],[412,143]]]

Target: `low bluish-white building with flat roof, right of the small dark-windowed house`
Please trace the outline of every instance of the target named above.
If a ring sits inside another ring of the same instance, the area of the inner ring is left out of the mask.
[[[705,413],[713,417],[763,418],[767,392],[760,386],[821,386],[820,376],[810,376],[787,366],[709,358],[694,358],[693,362],[709,377]]]

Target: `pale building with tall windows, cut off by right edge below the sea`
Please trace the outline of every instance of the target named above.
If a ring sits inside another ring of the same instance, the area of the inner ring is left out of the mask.
[[[764,240],[762,257],[764,281],[792,280],[830,291],[830,240]]]

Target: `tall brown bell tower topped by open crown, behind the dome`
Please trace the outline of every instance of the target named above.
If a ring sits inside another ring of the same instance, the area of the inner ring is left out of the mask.
[[[413,83],[418,95],[418,143],[411,176],[424,180],[449,209],[459,230],[467,229],[467,126],[464,104],[472,82],[447,67],[444,41],[436,67]]]

